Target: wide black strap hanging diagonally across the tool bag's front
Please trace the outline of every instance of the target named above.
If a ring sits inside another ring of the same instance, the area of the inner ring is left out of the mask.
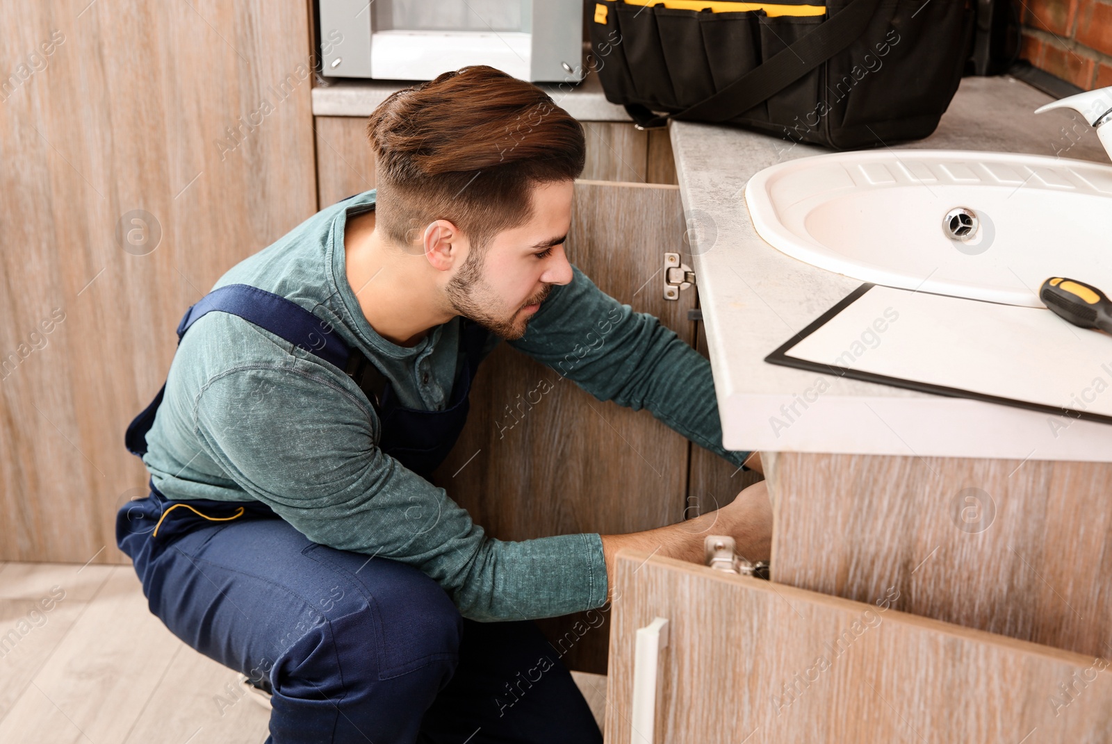
[[[639,129],[659,129],[668,118],[693,121],[727,121],[775,96],[857,40],[881,0],[853,0],[837,14],[791,47],[773,54],[709,98],[683,111],[657,116],[639,103],[625,107]]]

